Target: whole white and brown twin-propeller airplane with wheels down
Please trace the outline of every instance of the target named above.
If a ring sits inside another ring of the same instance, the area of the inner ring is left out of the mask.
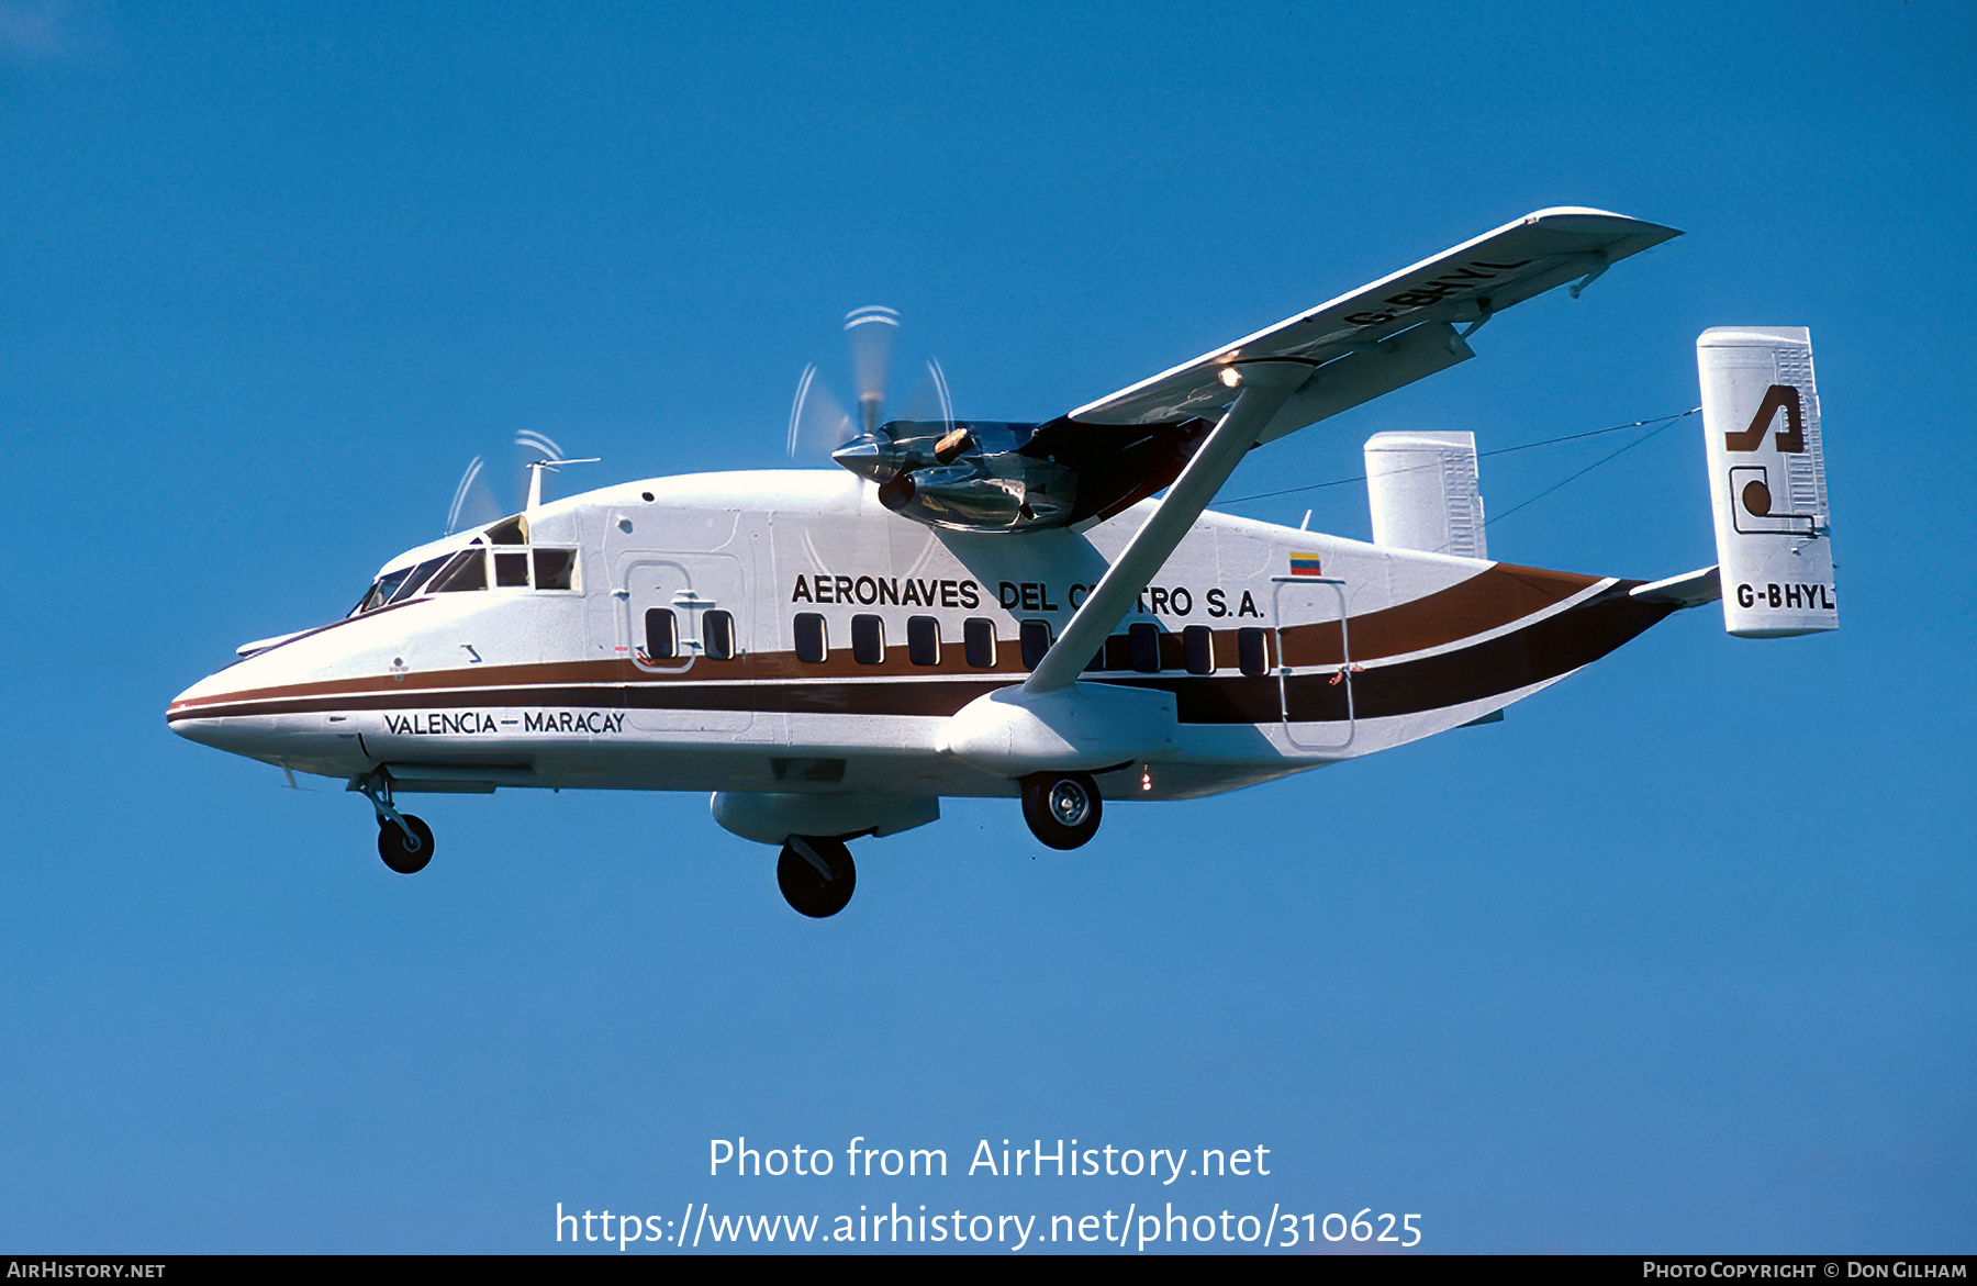
[[[807,917],[846,842],[1018,798],[1074,849],[1103,802],[1255,786],[1449,729],[1722,603],[1839,626],[1811,340],[1696,342],[1718,565],[1661,581],[1491,561],[1475,439],[1366,442],[1372,543],[1208,510],[1255,448],[1467,362],[1499,312],[1676,237],[1556,207],[1044,423],[878,421],[842,468],[646,478],[407,549],[330,624],[257,640],[172,731],[340,778],[391,871],[397,800],[700,790]],[[854,314],[856,316],[856,314]],[[1728,593],[1724,593],[1728,591]]]

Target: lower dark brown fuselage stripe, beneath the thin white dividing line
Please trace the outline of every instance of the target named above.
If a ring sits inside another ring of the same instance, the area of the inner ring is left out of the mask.
[[[1627,591],[1635,585],[1639,581],[1621,581],[1588,603],[1469,648],[1356,672],[1350,678],[1352,709],[1360,719],[1419,713],[1481,701],[1578,670],[1676,610],[1673,604],[1633,599]],[[1358,624],[1354,620],[1354,656],[1362,656],[1356,642]],[[1433,644],[1416,642],[1410,650],[1423,646]],[[587,662],[585,666],[623,672],[613,662]],[[722,662],[710,662],[710,666],[726,668]],[[945,717],[969,701],[1020,680],[1018,674],[992,676],[973,672],[969,676],[943,676],[933,670],[919,670],[917,678],[751,680],[737,674],[745,666],[735,662],[733,670],[728,672],[731,678],[724,676],[726,682],[706,676],[696,682],[641,680],[627,683],[593,680],[561,683],[542,682],[548,678],[544,676],[546,670],[561,672],[567,668],[506,666],[474,678],[524,674],[528,680],[510,683],[480,682],[453,691],[435,691],[435,685],[411,685],[407,682],[403,687],[378,689],[372,685],[370,691],[332,691],[330,685],[320,685],[312,691],[293,695],[277,695],[273,691],[239,693],[215,699],[214,703],[202,703],[198,711],[172,709],[166,717],[176,721],[221,715],[283,715],[338,709],[467,709],[484,705]],[[872,670],[878,668],[866,668],[866,674]],[[977,674],[981,678],[975,678]],[[1279,678],[1269,674],[1224,674],[1212,678],[1168,674],[1115,676],[1097,682],[1172,691],[1182,723],[1275,723],[1283,715],[1281,701],[1289,703],[1289,717],[1297,723],[1338,721],[1346,717],[1346,687],[1344,683],[1332,683],[1327,674],[1293,676],[1283,682],[1281,693]]]

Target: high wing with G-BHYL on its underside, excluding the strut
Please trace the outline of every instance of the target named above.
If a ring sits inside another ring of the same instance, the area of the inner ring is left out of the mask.
[[[1580,281],[1572,290],[1578,296],[1580,286],[1609,265],[1678,235],[1673,227],[1603,209],[1540,209],[1194,362],[1085,403],[1066,419],[1143,425],[1190,415],[1216,417],[1234,401],[1234,389],[1220,379],[1222,367],[1271,358],[1309,363],[1323,385],[1331,377],[1325,365],[1368,346],[1427,322],[1469,322],[1473,328],[1510,304],[1574,279]],[[1293,397],[1257,441],[1269,442],[1336,413],[1329,409],[1331,401],[1334,399]],[[1305,419],[1307,409],[1319,415]]]

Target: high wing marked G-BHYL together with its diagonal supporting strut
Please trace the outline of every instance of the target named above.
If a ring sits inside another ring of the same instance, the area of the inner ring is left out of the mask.
[[[1085,427],[1218,421],[1024,691],[1042,697],[1077,680],[1251,446],[1455,365],[1497,312],[1568,281],[1578,296],[1613,263],[1678,235],[1601,209],[1540,209],[1046,425],[1074,441]]]

